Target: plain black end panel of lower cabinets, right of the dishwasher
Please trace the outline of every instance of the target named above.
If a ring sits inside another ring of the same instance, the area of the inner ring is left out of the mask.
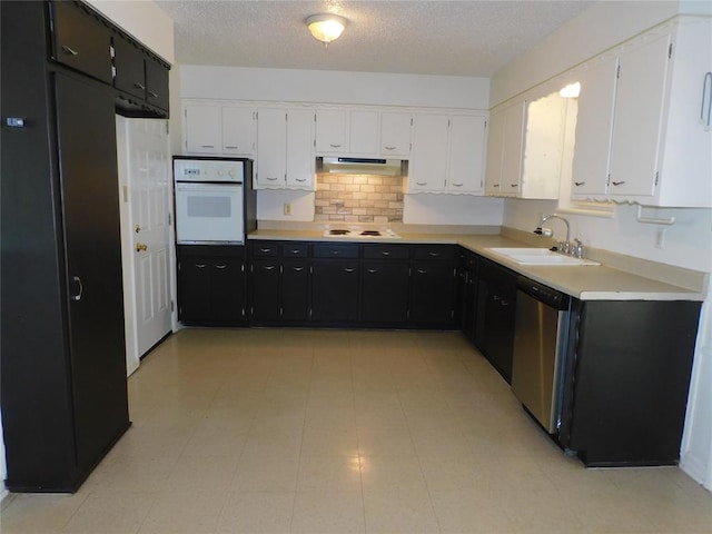
[[[700,303],[572,305],[560,442],[589,466],[680,458]]]

